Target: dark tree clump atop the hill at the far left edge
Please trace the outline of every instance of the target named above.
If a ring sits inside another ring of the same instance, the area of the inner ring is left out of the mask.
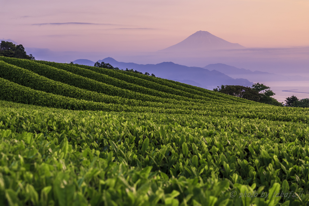
[[[35,60],[32,54],[27,55],[23,45],[20,44],[16,46],[12,42],[8,42],[8,41],[1,41],[0,56]]]

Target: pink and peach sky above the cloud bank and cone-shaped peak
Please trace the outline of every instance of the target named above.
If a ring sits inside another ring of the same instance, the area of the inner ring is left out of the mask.
[[[309,46],[308,0],[0,0],[0,6],[0,40],[55,51],[152,52],[199,30],[245,47]]]

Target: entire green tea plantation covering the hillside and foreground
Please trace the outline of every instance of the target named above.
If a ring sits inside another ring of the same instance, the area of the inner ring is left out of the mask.
[[[0,205],[309,205],[309,109],[0,57]]]

